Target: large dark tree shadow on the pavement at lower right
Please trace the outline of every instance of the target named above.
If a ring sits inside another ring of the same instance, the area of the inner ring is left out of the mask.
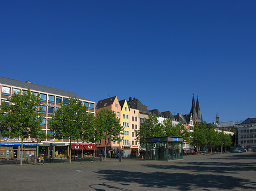
[[[167,172],[129,172],[100,170],[101,180],[108,180],[121,184],[138,184],[141,187],[155,189],[234,189],[255,188],[255,182],[225,175],[195,174],[195,173],[167,173]],[[139,189],[139,188],[138,188]]]

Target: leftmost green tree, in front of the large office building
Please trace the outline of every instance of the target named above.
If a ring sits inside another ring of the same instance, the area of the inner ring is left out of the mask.
[[[42,108],[40,107],[39,95],[34,95],[28,88],[21,94],[13,94],[8,99],[10,104],[2,102],[0,105],[1,121],[5,120],[10,123],[10,130],[7,130],[7,122],[2,124],[3,135],[6,137],[21,139],[21,158],[23,158],[23,141],[28,138],[35,138],[38,141],[46,138],[40,124],[42,123]]]

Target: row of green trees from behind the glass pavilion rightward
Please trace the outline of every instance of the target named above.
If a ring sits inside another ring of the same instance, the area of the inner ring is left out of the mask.
[[[205,146],[209,146],[211,149],[216,146],[230,146],[232,145],[232,138],[228,134],[223,132],[219,133],[215,131],[212,124],[207,125],[204,121],[196,122],[193,131],[189,131],[181,122],[177,125],[172,125],[170,120],[164,120],[163,124],[160,124],[156,116],[148,116],[148,119],[143,120],[139,130],[136,130],[137,139],[141,144],[145,143],[147,137],[182,137],[184,143],[188,143],[197,148],[201,147],[201,150],[205,150]]]

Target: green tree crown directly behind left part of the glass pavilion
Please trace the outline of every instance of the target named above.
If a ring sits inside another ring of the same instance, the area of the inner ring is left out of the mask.
[[[147,119],[144,119],[141,122],[141,127],[139,130],[134,131],[137,134],[137,140],[141,144],[146,143],[147,137],[162,137],[164,135],[163,125],[159,124],[156,116],[152,115],[149,115]]]

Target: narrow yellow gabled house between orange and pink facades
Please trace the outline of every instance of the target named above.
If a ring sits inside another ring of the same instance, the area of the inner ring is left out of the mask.
[[[129,157],[130,156],[130,110],[127,105],[126,100],[119,101],[119,104],[121,106],[121,125],[123,125],[123,157]]]

